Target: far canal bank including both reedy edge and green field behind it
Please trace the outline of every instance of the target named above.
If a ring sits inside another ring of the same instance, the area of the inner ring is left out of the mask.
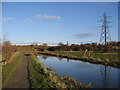
[[[104,53],[102,55],[98,54],[99,55],[98,57],[97,56],[88,57],[88,56],[83,56],[83,52],[81,55],[80,55],[80,52],[64,52],[64,51],[63,52],[62,51],[61,52],[48,52],[47,51],[47,52],[38,52],[38,53],[120,68],[120,61],[118,60],[118,54],[109,55],[109,54]],[[114,57],[116,59],[108,59],[108,57],[110,58]]]

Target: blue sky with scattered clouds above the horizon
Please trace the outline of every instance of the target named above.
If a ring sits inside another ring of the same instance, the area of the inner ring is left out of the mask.
[[[118,41],[117,2],[2,2],[3,38],[13,44],[99,42],[106,12]]]

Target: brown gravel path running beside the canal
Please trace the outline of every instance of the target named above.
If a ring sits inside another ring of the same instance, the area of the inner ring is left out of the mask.
[[[24,56],[11,76],[6,88],[29,88],[28,58]]]

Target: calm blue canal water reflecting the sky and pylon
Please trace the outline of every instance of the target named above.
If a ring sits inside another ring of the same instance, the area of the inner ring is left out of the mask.
[[[119,69],[117,68],[45,55],[39,55],[38,60],[46,67],[52,67],[52,72],[58,73],[59,77],[68,75],[69,77],[76,78],[79,82],[91,83],[93,88],[118,87]]]

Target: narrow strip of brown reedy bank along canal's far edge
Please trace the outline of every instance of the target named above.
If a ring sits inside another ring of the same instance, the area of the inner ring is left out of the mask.
[[[89,63],[93,63],[93,64],[102,64],[105,66],[120,68],[120,61],[119,60],[110,61],[108,59],[103,60],[100,58],[93,58],[93,57],[77,57],[77,56],[72,56],[72,55],[58,54],[58,53],[54,53],[54,52],[37,52],[37,54],[80,60],[80,61],[89,62]]]

